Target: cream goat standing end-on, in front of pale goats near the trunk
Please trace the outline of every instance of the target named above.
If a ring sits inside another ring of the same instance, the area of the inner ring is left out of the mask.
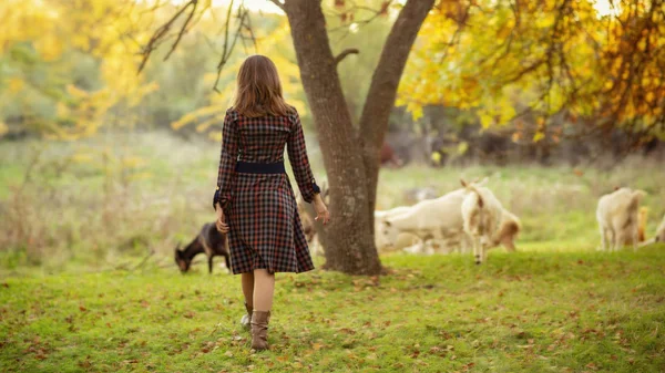
[[[499,232],[504,209],[490,189],[464,180],[461,183],[466,191],[461,207],[464,232],[471,237],[473,258],[480,265]]]

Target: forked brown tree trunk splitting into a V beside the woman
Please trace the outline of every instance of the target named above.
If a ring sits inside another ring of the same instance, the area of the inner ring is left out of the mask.
[[[360,131],[354,128],[344,97],[320,1],[284,3],[328,172],[331,221],[325,231],[319,229],[328,269],[352,274],[381,271],[374,241],[379,152],[409,51],[433,3],[409,0],[400,11],[372,75]]]

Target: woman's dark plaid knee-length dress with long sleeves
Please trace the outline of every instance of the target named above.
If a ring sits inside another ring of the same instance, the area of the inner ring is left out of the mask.
[[[213,203],[219,203],[229,226],[233,273],[314,269],[288,176],[236,172],[237,162],[284,162],[285,145],[300,194],[310,203],[318,187],[298,114],[253,118],[226,111]]]

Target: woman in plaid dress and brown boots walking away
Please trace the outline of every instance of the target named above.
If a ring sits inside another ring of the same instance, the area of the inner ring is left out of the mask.
[[[249,56],[238,71],[235,102],[224,118],[213,205],[217,229],[228,232],[233,273],[242,276],[255,350],[268,348],[275,272],[314,269],[284,168],[285,145],[300,195],[314,204],[316,220],[327,224],[330,214],[309,167],[298,113],[284,102],[273,61]]]

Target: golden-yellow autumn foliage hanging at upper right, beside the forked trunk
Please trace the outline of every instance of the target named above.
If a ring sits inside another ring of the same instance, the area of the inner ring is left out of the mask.
[[[604,4],[605,8],[601,8]],[[513,139],[620,131],[627,149],[665,138],[663,1],[441,1],[398,103],[473,111]]]

